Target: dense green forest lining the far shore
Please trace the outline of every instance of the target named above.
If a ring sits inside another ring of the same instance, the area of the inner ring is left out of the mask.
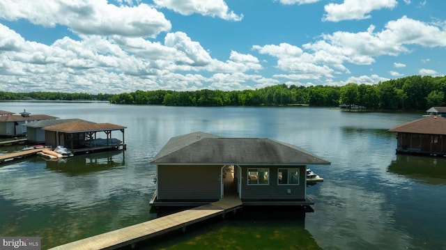
[[[269,86],[244,91],[135,91],[121,94],[7,93],[0,100],[107,100],[114,104],[154,104],[167,106],[287,106],[338,107],[355,104],[367,109],[426,110],[443,106],[446,77],[412,76],[374,85]]]

